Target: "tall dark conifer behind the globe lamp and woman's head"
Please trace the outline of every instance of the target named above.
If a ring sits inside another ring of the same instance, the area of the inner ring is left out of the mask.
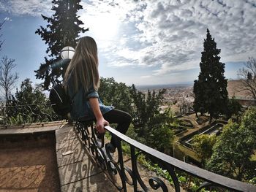
[[[39,34],[45,44],[48,44],[45,63],[41,64],[36,72],[37,79],[44,80],[43,88],[47,90],[50,83],[53,85],[61,82],[66,72],[67,65],[51,68],[53,64],[61,60],[61,49],[67,45],[75,47],[78,42],[78,34],[84,33],[89,28],[80,27],[83,24],[79,20],[77,12],[83,7],[79,4],[80,0],[53,0],[52,10],[55,12],[50,18],[42,15],[47,20],[48,25],[44,28],[40,26],[35,32]]]

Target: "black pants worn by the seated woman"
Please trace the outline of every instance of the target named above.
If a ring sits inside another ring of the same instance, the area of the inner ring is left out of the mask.
[[[110,110],[103,115],[103,118],[107,120],[109,123],[117,123],[116,131],[121,132],[122,134],[126,134],[129,124],[132,122],[132,117],[128,112],[124,112],[121,110]],[[113,137],[111,138],[110,143],[116,147],[117,143]]]

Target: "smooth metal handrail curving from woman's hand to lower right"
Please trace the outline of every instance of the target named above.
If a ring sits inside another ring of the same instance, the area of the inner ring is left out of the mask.
[[[251,185],[249,183],[243,183],[238,180],[233,180],[228,177],[224,177],[220,174],[208,172],[206,169],[201,169],[197,166],[192,166],[190,164],[187,164],[183,161],[180,161],[176,158],[171,157],[170,155],[166,155],[165,153],[161,153],[158,150],[154,150],[153,148],[148,147],[147,145],[143,145],[142,143],[137,142],[134,139],[127,137],[124,134],[121,134],[120,132],[116,131],[116,129],[111,128],[110,126],[105,126],[105,129],[110,131],[110,133],[115,134],[117,137],[119,137],[119,139],[124,140],[124,142],[129,143],[129,145],[133,145],[139,150],[142,150],[145,153],[151,154],[152,156],[159,158],[165,163],[171,164],[172,166],[175,166],[176,168],[181,169],[182,171],[187,172],[188,174],[192,174],[195,177],[199,177],[203,180],[206,180],[209,183],[214,183],[224,188],[236,190],[236,191],[251,191],[251,192],[256,191],[255,185]]]

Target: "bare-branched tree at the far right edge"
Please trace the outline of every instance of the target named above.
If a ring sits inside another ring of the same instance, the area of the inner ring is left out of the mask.
[[[238,76],[241,77],[242,86],[240,91],[247,91],[256,104],[256,59],[249,58],[242,69],[239,69]]]

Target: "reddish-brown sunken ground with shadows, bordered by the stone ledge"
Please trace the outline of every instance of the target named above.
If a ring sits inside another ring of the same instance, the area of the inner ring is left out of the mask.
[[[54,134],[1,139],[0,191],[60,191]]]

